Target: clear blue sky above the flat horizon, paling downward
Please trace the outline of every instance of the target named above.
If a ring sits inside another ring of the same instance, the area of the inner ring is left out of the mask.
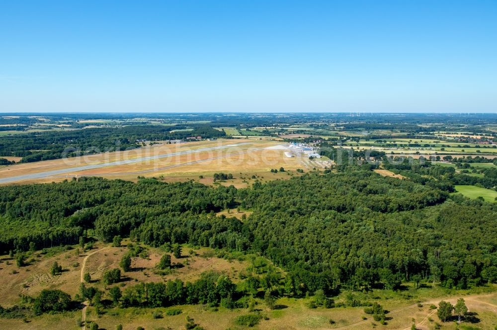
[[[497,1],[1,1],[0,112],[47,111],[497,112]]]

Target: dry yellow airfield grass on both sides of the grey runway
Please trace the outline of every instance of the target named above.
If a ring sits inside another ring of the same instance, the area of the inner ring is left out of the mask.
[[[243,144],[241,144],[243,143]],[[22,183],[62,181],[73,176],[91,175],[108,178],[134,180],[137,176],[171,178],[181,181],[194,179],[199,175],[212,176],[215,172],[247,173],[269,171],[271,168],[284,167],[294,170],[302,167],[298,157],[284,156],[284,149],[271,149],[281,142],[255,139],[220,139],[216,141],[199,141],[182,144],[164,144],[146,146],[141,149],[109,152],[98,155],[41,161],[36,163],[16,164],[0,169],[0,177],[12,177],[31,173],[59,170],[63,168],[108,163],[117,160],[135,159],[138,157],[166,155],[175,152],[195,150],[205,147],[221,147],[219,150],[198,151],[189,154],[172,155],[170,157],[144,160],[137,163],[107,166],[92,170],[68,172],[53,177],[25,180]],[[177,177],[180,177],[179,179]],[[236,183],[245,186],[242,183]]]

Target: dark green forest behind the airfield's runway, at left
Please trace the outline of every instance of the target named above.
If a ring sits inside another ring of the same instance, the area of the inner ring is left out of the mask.
[[[186,131],[187,128],[190,131]],[[122,128],[33,132],[0,137],[0,156],[18,156],[22,157],[21,162],[34,162],[87,153],[133,149],[140,147],[137,140],[184,139],[188,136],[208,138],[225,135],[225,132],[206,125],[188,125],[188,127],[132,125]]]

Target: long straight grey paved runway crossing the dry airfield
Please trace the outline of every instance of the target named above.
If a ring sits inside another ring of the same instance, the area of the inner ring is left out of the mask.
[[[127,160],[118,160],[118,161],[109,162],[109,163],[82,165],[82,166],[76,166],[76,167],[63,168],[60,170],[52,170],[52,171],[37,172],[37,173],[31,173],[31,174],[25,174],[25,175],[19,175],[19,176],[7,177],[7,178],[0,178],[0,184],[22,181],[22,180],[42,179],[42,178],[46,178],[46,177],[61,175],[64,173],[93,170],[95,168],[102,168],[102,167],[107,167],[107,166],[127,165],[127,164],[139,163],[139,162],[143,162],[143,161],[147,161],[147,160],[162,159],[162,158],[167,158],[167,157],[171,157],[171,156],[178,156],[178,155],[186,155],[186,154],[195,153],[195,152],[221,150],[221,149],[226,149],[226,148],[239,146],[239,145],[243,145],[243,144],[248,144],[248,143],[249,142],[242,142],[242,143],[236,143],[236,144],[221,145],[221,146],[216,146],[216,147],[200,148],[200,149],[194,149],[194,150],[185,150],[185,151],[172,152],[172,153],[164,154],[164,155],[138,157],[138,158],[127,159]]]

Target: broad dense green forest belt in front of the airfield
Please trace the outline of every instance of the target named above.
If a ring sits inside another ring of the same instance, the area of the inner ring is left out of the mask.
[[[437,175],[440,175],[438,173]],[[76,243],[91,232],[152,246],[189,243],[261,254],[294,295],[395,288],[415,276],[466,288],[497,279],[497,206],[369,167],[237,190],[198,183],[80,178],[0,188],[0,249]],[[214,212],[236,206],[244,221]]]

